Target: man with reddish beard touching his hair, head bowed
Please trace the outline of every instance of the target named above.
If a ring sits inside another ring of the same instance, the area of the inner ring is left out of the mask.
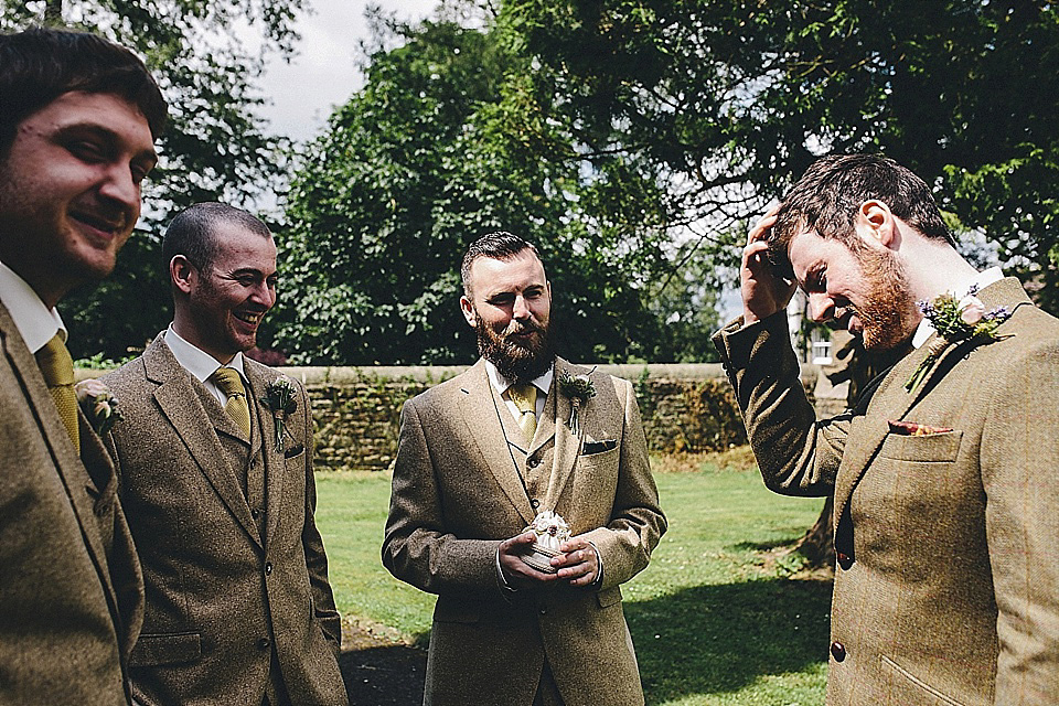
[[[953,244],[907,169],[823,158],[750,232],[744,314],[714,339],[766,484],[835,495],[830,705],[1059,694],[1059,321]],[[799,382],[795,284],[905,353],[833,419]]]

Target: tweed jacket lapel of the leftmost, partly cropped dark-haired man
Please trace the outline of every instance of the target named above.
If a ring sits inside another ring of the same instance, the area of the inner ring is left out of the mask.
[[[18,327],[14,325],[14,321],[11,319],[11,314],[8,313],[7,307],[2,303],[0,303],[0,339],[2,339],[3,353],[11,364],[11,370],[19,378],[19,383],[25,392],[26,406],[33,416],[36,417],[44,446],[47,447],[51,453],[55,471],[66,488],[66,495],[69,499],[74,516],[77,517],[77,523],[81,525],[81,534],[85,539],[85,548],[92,558],[96,573],[99,575],[99,582],[103,584],[104,592],[107,597],[107,605],[110,608],[116,623],[120,624],[121,613],[118,609],[118,600],[114,591],[114,586],[110,582],[106,547],[104,547],[99,536],[93,507],[88,503],[90,493],[86,494],[81,489],[75,490],[78,483],[84,483],[84,480],[78,478],[79,473],[76,472],[77,466],[81,464],[82,461],[77,457],[77,450],[74,448],[73,441],[69,440],[69,434],[66,431],[62,418],[58,416],[55,402],[51,393],[47,392],[47,385],[44,383],[44,376],[41,375],[41,368],[36,364],[36,359],[33,357],[33,354],[25,346],[22,334],[19,333]],[[78,417],[79,416],[81,411],[78,410]],[[85,426],[87,426],[87,421],[85,421]],[[109,463],[109,460],[106,462]]]

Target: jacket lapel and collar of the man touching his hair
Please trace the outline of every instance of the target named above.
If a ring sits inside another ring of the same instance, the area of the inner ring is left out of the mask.
[[[1014,311],[1018,306],[1030,303],[1023,286],[1014,277],[1007,277],[990,285],[977,296],[987,310],[1004,306],[1009,311]],[[1003,335],[1004,324],[1001,324],[998,332]],[[879,384],[878,389],[866,403],[870,406],[870,414],[864,415],[858,422],[857,434],[847,439],[842,464],[838,468],[838,477],[835,480],[835,522],[842,517],[853,491],[889,434],[888,421],[891,419],[895,421],[902,420],[905,415],[938,384],[938,381],[953,368],[955,361],[973,350],[969,349],[966,344],[950,345],[931,366],[916,392],[907,392],[905,383],[911,377],[920,363],[930,355],[930,346],[938,339],[937,333],[932,334],[923,345],[898,361],[885,374],[886,377]],[[986,343],[984,345],[992,344]],[[863,413],[864,410],[859,411]]]

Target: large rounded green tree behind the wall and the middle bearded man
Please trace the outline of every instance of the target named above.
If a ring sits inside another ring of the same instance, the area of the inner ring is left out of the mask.
[[[506,229],[542,253],[560,353],[654,359],[668,220],[654,174],[588,161],[568,125],[539,119],[532,64],[489,23],[378,18],[376,33],[364,89],[289,194],[277,344],[300,363],[470,362],[460,259]]]

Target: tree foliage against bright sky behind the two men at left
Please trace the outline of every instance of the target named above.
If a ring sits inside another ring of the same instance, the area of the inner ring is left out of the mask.
[[[289,55],[304,0],[0,0],[0,31],[33,23],[99,32],[145,58],[170,106],[158,143],[161,164],[145,189],[137,233],[115,274],[99,288],[63,301],[74,356],[126,356],[169,322],[169,277],[161,261],[162,224],[201,201],[246,205],[277,179],[282,141],[266,133],[253,86],[269,52]],[[234,29],[260,33],[250,53]]]

